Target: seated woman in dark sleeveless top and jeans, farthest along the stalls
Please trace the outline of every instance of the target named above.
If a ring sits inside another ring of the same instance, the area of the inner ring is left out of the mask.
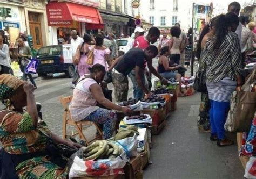
[[[179,66],[169,66],[169,55],[170,51],[168,46],[164,46],[160,49],[160,57],[158,60],[158,73],[166,79],[175,78],[175,80],[179,82],[179,85],[177,86],[178,96],[183,96],[182,92],[180,91],[181,75],[179,73],[173,72],[175,70],[178,70]]]

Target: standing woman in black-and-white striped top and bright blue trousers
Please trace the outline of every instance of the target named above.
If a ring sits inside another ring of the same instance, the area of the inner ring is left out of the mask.
[[[211,141],[218,146],[228,146],[234,142],[225,137],[224,124],[230,109],[232,92],[242,82],[240,42],[235,30],[239,18],[230,12],[220,15],[215,22],[214,35],[206,41],[202,63],[206,66],[206,86],[211,103]]]

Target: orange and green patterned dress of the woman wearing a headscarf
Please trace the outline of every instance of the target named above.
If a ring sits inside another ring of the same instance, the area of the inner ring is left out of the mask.
[[[41,122],[35,128],[28,112],[24,114],[4,110],[0,112],[3,120],[0,125],[0,141],[5,152],[11,155],[43,153],[51,135],[48,126]],[[47,136],[46,136],[47,135]],[[10,162],[10,161],[3,161]],[[66,178],[67,172],[50,157],[33,157],[18,163],[16,173],[19,178]]]

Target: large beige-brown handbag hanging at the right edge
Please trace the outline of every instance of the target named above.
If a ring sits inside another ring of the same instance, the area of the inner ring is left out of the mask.
[[[251,92],[255,69],[252,71],[241,91],[233,91],[230,111],[224,128],[228,132],[248,132],[256,109],[256,93]]]

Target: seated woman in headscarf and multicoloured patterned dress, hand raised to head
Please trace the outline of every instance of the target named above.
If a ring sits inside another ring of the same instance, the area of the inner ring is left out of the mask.
[[[48,143],[81,147],[59,138],[38,121],[34,90],[15,76],[0,75],[0,99],[8,109],[0,111],[0,178],[66,178],[66,169],[51,161]]]

